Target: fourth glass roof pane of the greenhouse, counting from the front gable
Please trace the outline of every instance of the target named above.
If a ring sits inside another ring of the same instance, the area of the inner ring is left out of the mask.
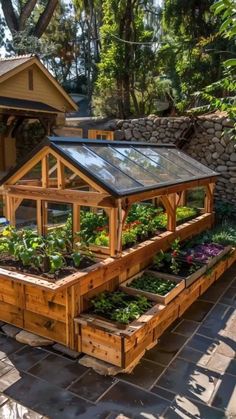
[[[143,153],[146,157],[150,159],[150,161],[153,161],[160,165],[162,172],[168,174],[171,179],[181,180],[186,179],[192,176],[192,173],[190,173],[188,170],[182,170],[179,166],[177,166],[174,161],[170,161],[166,159],[164,156],[159,154],[159,148],[158,149],[152,149],[152,148],[144,148],[140,147],[137,148],[140,153]]]

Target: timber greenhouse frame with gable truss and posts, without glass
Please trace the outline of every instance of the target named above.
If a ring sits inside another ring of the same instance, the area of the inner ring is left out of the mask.
[[[49,168],[49,158],[53,156],[55,164]],[[41,164],[41,181],[26,180],[23,177],[37,164]],[[81,183],[77,183],[77,189],[70,189],[65,177],[65,169],[68,168],[72,177],[79,177]],[[52,171],[53,170],[53,171]],[[57,177],[51,178],[51,174],[56,171]],[[183,202],[185,191],[194,186],[205,186],[205,212],[213,211],[213,191],[215,178],[193,180],[178,185],[168,186],[129,195],[124,198],[115,198],[100,185],[88,178],[78,170],[70,161],[59,155],[50,146],[43,147],[30,161],[25,163],[16,173],[14,173],[4,184],[6,214],[12,225],[15,225],[15,212],[23,199],[35,200],[37,202],[37,225],[38,232],[45,231],[46,210],[44,202],[61,202],[72,205],[73,235],[80,231],[80,207],[102,208],[109,217],[109,247],[97,248],[93,250],[100,257],[108,255],[117,257],[122,252],[122,228],[124,226],[129,209],[134,202],[146,199],[160,199],[167,213],[167,230],[176,231],[176,208]],[[83,185],[87,185],[88,190],[81,190]],[[42,210],[40,210],[40,207]],[[47,224],[47,223],[46,223]]]

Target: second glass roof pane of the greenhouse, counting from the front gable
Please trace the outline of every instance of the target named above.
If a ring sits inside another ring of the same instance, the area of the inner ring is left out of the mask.
[[[160,178],[146,172],[141,166],[129,160],[123,154],[119,153],[112,147],[93,147],[93,150],[100,157],[109,161],[112,165],[122,170],[128,176],[136,179],[143,186],[152,186],[160,182]]]

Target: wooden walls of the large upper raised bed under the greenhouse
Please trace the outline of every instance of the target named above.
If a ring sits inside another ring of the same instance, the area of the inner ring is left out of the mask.
[[[78,349],[81,339],[73,320],[87,309],[86,300],[92,293],[119,287],[150,265],[156,252],[167,250],[175,238],[185,240],[210,228],[213,217],[210,213],[201,215],[178,226],[175,232],[162,233],[122,252],[117,259],[107,258],[55,283],[0,268],[0,320]]]

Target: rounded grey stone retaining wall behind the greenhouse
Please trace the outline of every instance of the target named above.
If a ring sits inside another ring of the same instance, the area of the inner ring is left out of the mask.
[[[117,121],[115,138],[176,143],[184,152],[220,173],[216,199],[236,205],[236,142],[227,133],[231,126],[227,116],[222,114],[194,119],[150,115],[147,118]],[[183,140],[185,135],[186,140]]]

